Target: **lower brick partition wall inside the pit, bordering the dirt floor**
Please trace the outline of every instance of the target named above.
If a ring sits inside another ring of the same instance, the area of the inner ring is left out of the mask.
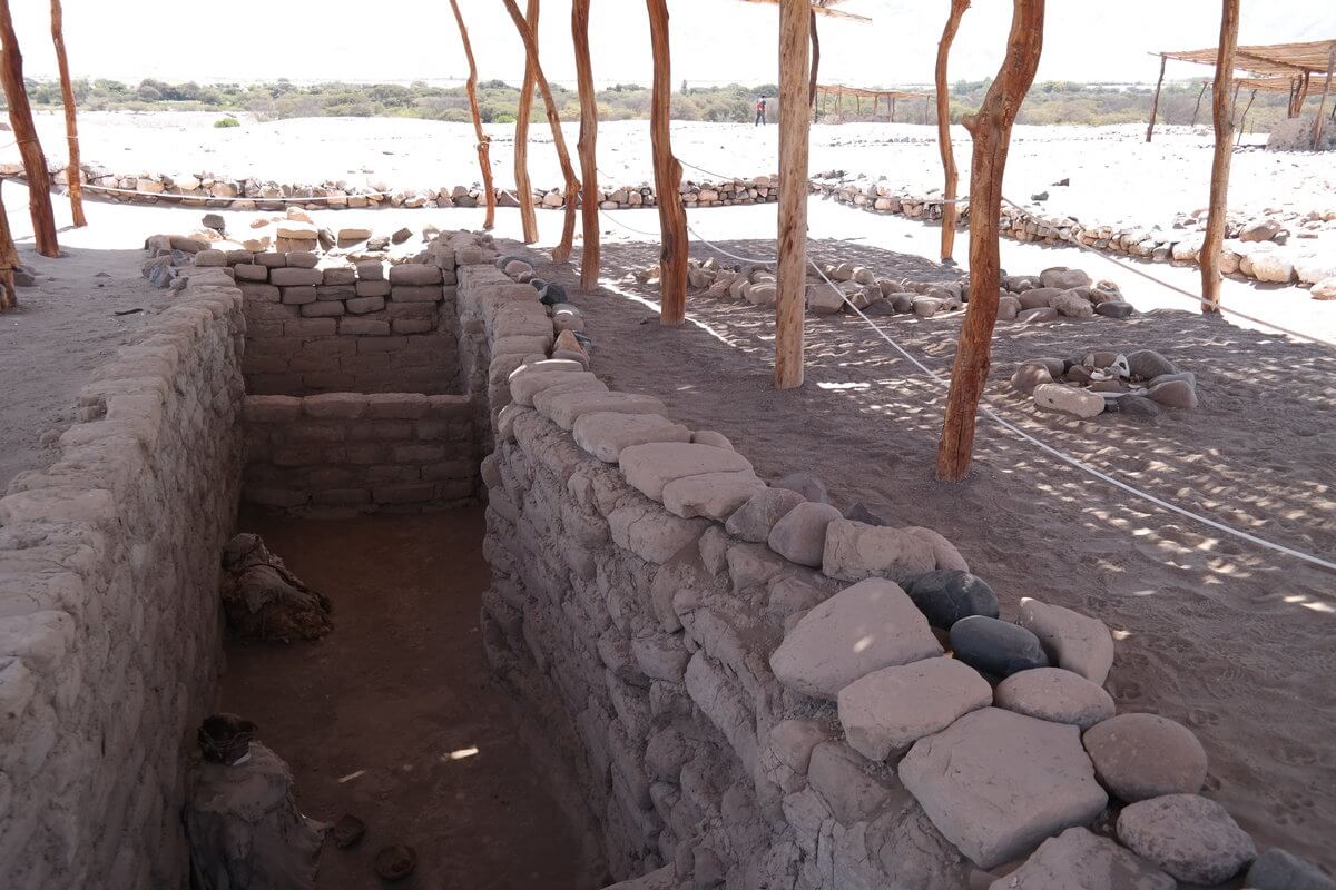
[[[247,502],[297,512],[456,506],[477,494],[462,395],[246,396]]]

